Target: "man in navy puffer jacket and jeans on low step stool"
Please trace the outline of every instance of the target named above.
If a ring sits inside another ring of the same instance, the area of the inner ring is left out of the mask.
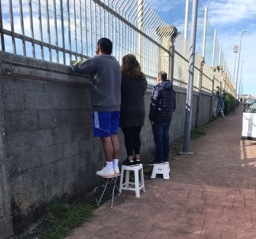
[[[156,152],[153,162],[150,162],[149,165],[168,164],[170,121],[173,111],[176,109],[176,93],[172,83],[167,79],[167,73],[160,71],[157,82],[158,85],[154,87],[152,93],[149,111]]]

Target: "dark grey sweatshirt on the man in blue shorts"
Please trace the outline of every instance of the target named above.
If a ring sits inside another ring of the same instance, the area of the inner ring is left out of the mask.
[[[121,69],[112,55],[95,55],[72,65],[79,74],[90,74],[91,104],[95,111],[119,111],[121,105]]]

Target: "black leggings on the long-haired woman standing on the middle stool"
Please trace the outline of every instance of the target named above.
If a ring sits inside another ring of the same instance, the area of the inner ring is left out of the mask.
[[[125,136],[125,148],[127,156],[134,154],[139,154],[141,149],[141,138],[139,133],[141,133],[141,126],[122,128],[123,135]]]

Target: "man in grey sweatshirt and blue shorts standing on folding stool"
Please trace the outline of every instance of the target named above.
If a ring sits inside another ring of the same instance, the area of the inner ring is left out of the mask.
[[[100,38],[95,57],[72,64],[79,74],[90,74],[92,125],[94,137],[100,137],[106,156],[106,166],[96,172],[102,177],[119,174],[119,142],[117,138],[121,105],[121,69],[113,57],[110,39]]]

